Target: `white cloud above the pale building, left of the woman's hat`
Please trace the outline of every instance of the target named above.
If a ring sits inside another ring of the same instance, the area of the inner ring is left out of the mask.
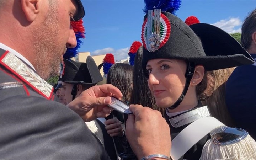
[[[108,47],[104,49],[95,50],[91,52],[91,55],[102,55],[102,54],[112,53],[114,55],[115,60],[119,61],[121,59],[127,59],[127,57],[129,56],[128,55],[129,49],[130,48],[127,47],[127,48],[115,50],[114,48]]]

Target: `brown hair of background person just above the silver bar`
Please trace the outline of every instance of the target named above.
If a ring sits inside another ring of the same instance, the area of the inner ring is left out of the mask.
[[[133,85],[133,66],[125,63],[113,64],[108,70],[107,84],[112,84],[122,92],[122,101],[130,101]]]

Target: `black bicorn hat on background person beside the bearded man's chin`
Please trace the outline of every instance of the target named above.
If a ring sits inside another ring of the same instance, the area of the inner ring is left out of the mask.
[[[61,80],[70,84],[97,84],[102,81],[100,70],[94,59],[88,56],[86,63],[64,59],[64,75]]]

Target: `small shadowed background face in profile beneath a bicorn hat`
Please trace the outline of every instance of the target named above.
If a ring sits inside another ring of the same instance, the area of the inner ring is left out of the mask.
[[[73,84],[62,82],[62,90],[60,91],[60,103],[67,105],[72,101]]]

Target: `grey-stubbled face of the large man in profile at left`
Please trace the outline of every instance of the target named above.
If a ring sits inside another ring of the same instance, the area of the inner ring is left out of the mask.
[[[66,48],[76,46],[75,33],[70,25],[76,11],[75,2],[49,0],[48,6],[43,22],[32,33],[36,54],[34,67],[44,79],[59,74]]]

